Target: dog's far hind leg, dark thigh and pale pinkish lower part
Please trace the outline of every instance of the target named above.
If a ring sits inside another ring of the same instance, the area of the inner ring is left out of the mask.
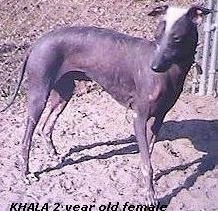
[[[75,88],[74,78],[70,74],[62,76],[53,87],[50,95],[51,107],[42,127],[42,134],[45,137],[48,152],[58,154],[53,142],[52,133],[55,124],[70,101]]]

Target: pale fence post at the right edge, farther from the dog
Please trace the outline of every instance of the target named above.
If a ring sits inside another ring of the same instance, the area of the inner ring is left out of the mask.
[[[217,59],[217,50],[218,50],[218,0],[215,7],[215,18],[214,18],[214,35],[213,35],[213,44],[211,49],[211,58],[210,58],[210,68],[209,68],[209,78],[208,78],[208,88],[207,94],[212,95],[214,91],[214,80],[216,74],[216,59]]]

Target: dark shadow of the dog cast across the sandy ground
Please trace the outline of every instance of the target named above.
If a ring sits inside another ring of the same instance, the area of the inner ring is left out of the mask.
[[[188,138],[195,149],[205,152],[206,154],[199,159],[186,163],[184,165],[174,166],[156,174],[154,180],[159,180],[163,175],[167,175],[175,170],[185,170],[194,164],[198,164],[196,171],[185,179],[184,184],[172,190],[172,193],[164,196],[160,201],[163,204],[169,204],[170,200],[175,197],[182,189],[192,187],[197,178],[207,171],[213,170],[218,164],[218,120],[183,120],[183,121],[167,121],[163,124],[158,141],[170,140],[174,141],[180,138]],[[80,152],[85,149],[92,149],[97,146],[120,146],[119,149],[111,150],[97,156],[85,155],[77,160],[70,157],[73,153]],[[123,146],[125,145],[125,146]],[[185,150],[185,149],[184,149]],[[111,142],[100,142],[91,145],[77,146],[62,158],[62,162],[54,167],[48,167],[40,172],[35,172],[35,176],[39,177],[44,172],[61,169],[67,165],[78,164],[92,159],[108,159],[117,155],[138,153],[138,145],[134,136],[127,139],[116,140]]]

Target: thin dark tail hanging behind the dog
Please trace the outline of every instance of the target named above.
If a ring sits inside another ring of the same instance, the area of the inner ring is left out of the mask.
[[[18,80],[18,83],[16,85],[14,94],[12,95],[12,97],[11,97],[10,101],[8,102],[7,106],[5,108],[3,108],[2,110],[0,110],[0,112],[6,111],[14,103],[14,100],[15,100],[15,98],[17,96],[17,93],[18,93],[18,91],[20,89],[20,85],[21,85],[21,83],[23,81],[23,78],[24,78],[24,73],[25,73],[25,70],[26,70],[26,64],[27,64],[28,58],[29,58],[29,52],[27,53],[27,55],[25,57],[25,60],[24,60],[24,63],[22,65],[22,71],[20,73],[19,80]]]

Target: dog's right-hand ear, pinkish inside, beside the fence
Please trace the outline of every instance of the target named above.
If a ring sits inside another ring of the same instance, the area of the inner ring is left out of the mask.
[[[201,6],[192,6],[188,12],[187,16],[196,24],[200,24],[205,15],[211,13],[212,10],[201,7]]]

